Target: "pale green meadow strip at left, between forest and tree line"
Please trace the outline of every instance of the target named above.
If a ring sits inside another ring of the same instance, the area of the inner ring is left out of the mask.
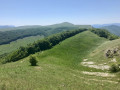
[[[27,44],[33,43],[42,38],[44,38],[44,36],[39,36],[39,35],[30,36],[30,37],[26,37],[23,39],[18,39],[16,41],[11,42],[10,44],[0,45],[0,55],[5,54],[5,53],[10,53],[16,50],[17,48],[19,48],[20,46],[27,46]]]

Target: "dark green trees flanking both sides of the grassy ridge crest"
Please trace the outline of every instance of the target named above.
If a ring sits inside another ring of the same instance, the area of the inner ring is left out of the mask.
[[[52,48],[53,46],[59,44],[61,41],[72,37],[78,33],[84,32],[84,31],[91,31],[95,34],[97,34],[100,37],[104,37],[109,40],[117,39],[118,37],[109,33],[108,31],[104,29],[77,29],[77,30],[71,30],[71,31],[65,31],[62,33],[54,34],[52,36],[49,36],[43,40],[39,40],[37,42],[34,42],[33,44],[28,45],[27,47],[20,47],[17,51],[14,51],[10,54],[8,54],[5,58],[5,62],[11,62],[11,61],[18,61],[24,57],[29,56],[30,54],[34,54],[39,51],[47,50]]]

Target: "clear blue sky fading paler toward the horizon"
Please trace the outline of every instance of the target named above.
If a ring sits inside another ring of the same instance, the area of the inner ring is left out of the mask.
[[[0,0],[0,25],[120,23],[120,0]]]

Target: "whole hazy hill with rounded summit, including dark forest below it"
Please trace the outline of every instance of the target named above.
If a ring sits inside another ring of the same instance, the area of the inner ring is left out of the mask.
[[[11,41],[15,41],[24,37],[36,35],[44,35],[46,37],[51,34],[79,28],[91,28],[91,26],[73,25],[67,22],[49,26],[21,26],[18,28],[9,29],[9,31],[0,31],[0,45],[8,44]]]

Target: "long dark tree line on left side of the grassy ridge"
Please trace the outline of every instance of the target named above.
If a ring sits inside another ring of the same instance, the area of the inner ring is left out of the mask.
[[[18,50],[8,54],[4,58],[4,62],[15,62],[22,58],[29,56],[30,54],[34,54],[36,52],[40,52],[43,50],[47,50],[52,48],[53,46],[59,44],[61,41],[72,37],[80,32],[86,31],[87,29],[78,29],[72,31],[65,31],[62,33],[58,33],[52,36],[49,36],[43,40],[39,40],[33,44],[28,45],[27,47],[20,47]]]

